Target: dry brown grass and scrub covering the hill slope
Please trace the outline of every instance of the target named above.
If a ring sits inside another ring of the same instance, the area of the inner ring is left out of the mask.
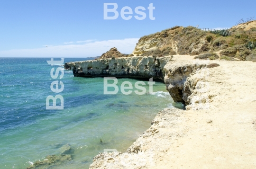
[[[176,54],[172,48],[176,45],[177,54],[198,55],[207,52],[223,50],[222,54],[231,57],[238,57],[245,60],[247,53],[244,49],[237,49],[238,45],[243,45],[248,41],[256,41],[256,34],[246,34],[243,32],[235,32],[230,36],[215,35],[207,31],[195,27],[173,27],[165,29],[161,32],[143,36],[139,40],[139,45],[150,44],[150,48],[158,48],[161,50],[146,51],[144,47],[135,48],[135,54],[156,55],[158,57]],[[166,52],[165,52],[166,51]],[[154,53],[154,54],[153,54]],[[239,53],[239,54],[238,54]],[[245,54],[245,56],[243,56]]]

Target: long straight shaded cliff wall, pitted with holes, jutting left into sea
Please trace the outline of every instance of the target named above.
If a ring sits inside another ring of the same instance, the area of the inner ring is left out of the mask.
[[[165,64],[171,60],[170,56],[157,57],[126,57],[100,59],[96,61],[68,62],[64,68],[73,70],[74,76],[122,78],[142,78],[164,80]]]

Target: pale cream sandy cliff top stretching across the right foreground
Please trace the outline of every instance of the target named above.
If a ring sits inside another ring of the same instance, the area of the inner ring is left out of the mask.
[[[219,66],[187,78],[184,86],[192,89],[187,110],[161,111],[126,153],[99,154],[90,169],[256,168],[256,63],[198,61],[189,55],[173,60],[165,71],[201,63]]]

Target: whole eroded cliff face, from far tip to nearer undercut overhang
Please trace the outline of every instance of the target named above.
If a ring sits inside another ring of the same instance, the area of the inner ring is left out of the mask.
[[[80,77],[122,77],[162,80],[175,102],[189,105],[197,80],[190,78],[196,71],[216,67],[218,64],[195,64],[192,61],[172,61],[171,56],[156,58],[126,57],[96,61],[68,62],[65,69]],[[190,80],[188,81],[188,78]]]

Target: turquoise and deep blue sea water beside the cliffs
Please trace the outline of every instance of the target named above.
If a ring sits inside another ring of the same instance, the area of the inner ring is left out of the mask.
[[[64,71],[64,110],[46,110],[54,81],[47,58],[0,58],[0,168],[26,169],[69,144],[73,161],[53,169],[88,169],[104,149],[124,152],[152,119],[174,104],[165,84],[155,82],[145,95],[103,94],[103,78],[73,77]],[[65,58],[64,62],[82,61]],[[63,67],[63,65],[61,65]],[[133,86],[137,80],[130,81]],[[146,81],[145,81],[146,82]],[[147,91],[148,85],[146,85]],[[101,142],[102,141],[102,142]]]

